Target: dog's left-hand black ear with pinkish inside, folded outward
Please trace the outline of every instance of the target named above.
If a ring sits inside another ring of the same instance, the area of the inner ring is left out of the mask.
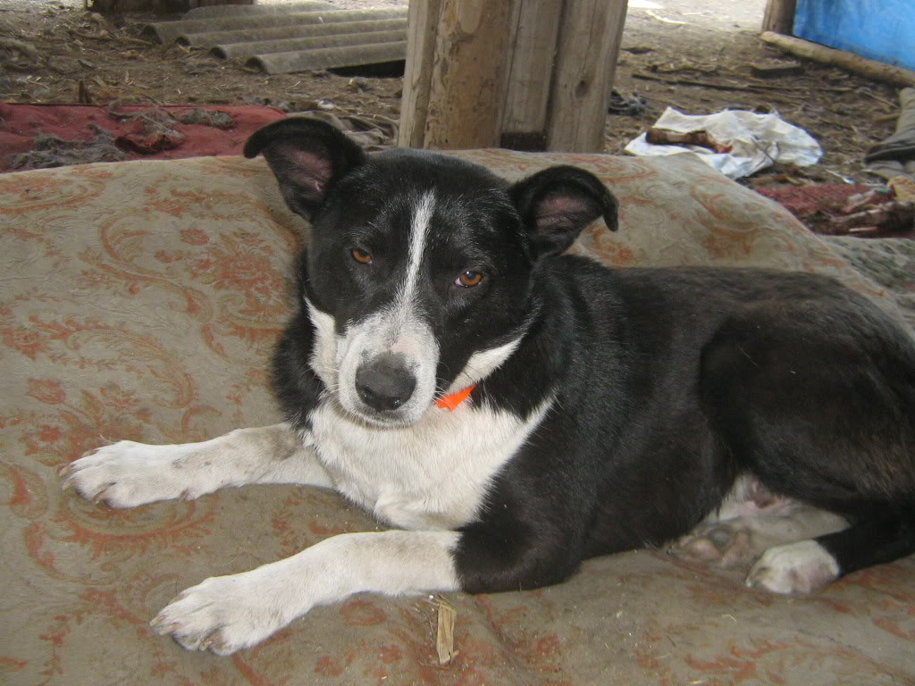
[[[255,131],[244,156],[264,153],[280,183],[286,204],[307,220],[328,190],[365,162],[365,153],[339,129],[307,117],[289,117]]]

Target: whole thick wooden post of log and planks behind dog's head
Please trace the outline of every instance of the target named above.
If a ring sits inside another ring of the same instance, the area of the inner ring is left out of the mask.
[[[412,0],[400,145],[602,152],[626,5]]]

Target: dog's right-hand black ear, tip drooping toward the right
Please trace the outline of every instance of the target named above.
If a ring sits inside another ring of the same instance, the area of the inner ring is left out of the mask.
[[[598,217],[609,230],[617,230],[617,199],[584,169],[551,166],[522,179],[510,192],[536,257],[565,251]]]

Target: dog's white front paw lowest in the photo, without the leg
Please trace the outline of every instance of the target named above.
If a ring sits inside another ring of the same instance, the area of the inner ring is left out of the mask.
[[[296,616],[257,570],[213,576],[178,595],[150,625],[188,650],[231,655],[261,642]]]

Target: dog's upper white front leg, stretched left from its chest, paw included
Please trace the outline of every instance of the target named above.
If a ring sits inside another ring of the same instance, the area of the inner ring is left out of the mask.
[[[113,508],[199,498],[243,484],[331,486],[311,445],[285,423],[237,429],[202,443],[119,441],[90,451],[61,473],[64,488]]]

